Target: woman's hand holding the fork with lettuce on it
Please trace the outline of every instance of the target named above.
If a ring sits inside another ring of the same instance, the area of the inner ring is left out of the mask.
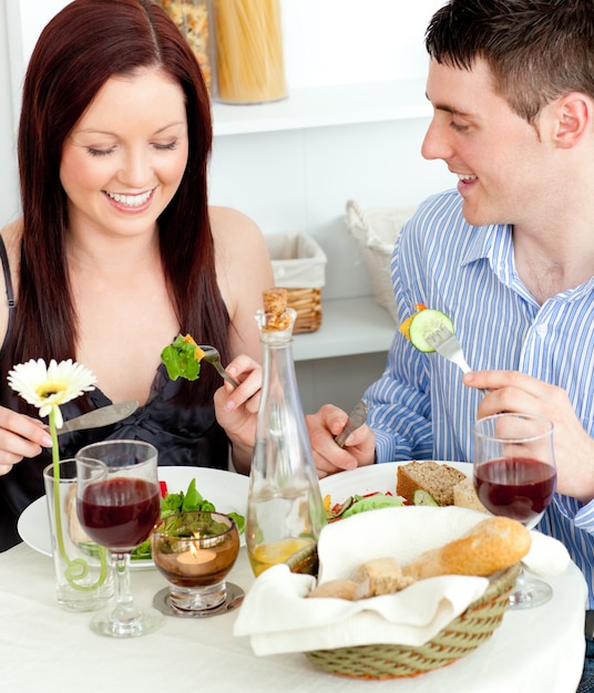
[[[247,474],[256,442],[262,368],[249,356],[239,355],[225,370],[239,381],[239,386],[225,382],[215,392],[215,414],[233,444],[235,468]]]

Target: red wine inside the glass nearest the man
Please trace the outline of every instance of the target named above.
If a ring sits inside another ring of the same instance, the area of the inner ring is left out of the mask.
[[[542,517],[555,492],[556,472],[539,459],[506,457],[479,465],[477,494],[488,510],[526,527]]]

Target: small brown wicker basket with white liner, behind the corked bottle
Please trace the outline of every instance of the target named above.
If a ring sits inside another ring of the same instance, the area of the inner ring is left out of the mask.
[[[287,289],[288,306],[297,311],[294,333],[315,332],[321,324],[321,287],[326,254],[306,234],[266,236],[275,283]]]

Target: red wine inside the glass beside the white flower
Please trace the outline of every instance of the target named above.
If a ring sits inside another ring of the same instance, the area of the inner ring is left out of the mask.
[[[114,552],[131,551],[144,541],[160,509],[157,488],[141,478],[113,477],[91,484],[80,501],[89,536]]]

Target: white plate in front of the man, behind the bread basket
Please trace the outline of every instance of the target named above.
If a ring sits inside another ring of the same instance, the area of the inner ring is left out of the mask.
[[[319,482],[321,495],[330,494],[332,505],[344,503],[350,496],[365,496],[375,492],[391,493],[396,495],[396,469],[408,462],[386,462],[383,464],[357,467],[349,472],[339,472],[326,476]],[[472,464],[470,462],[440,462],[450,467],[460,469],[467,476],[472,475]]]

